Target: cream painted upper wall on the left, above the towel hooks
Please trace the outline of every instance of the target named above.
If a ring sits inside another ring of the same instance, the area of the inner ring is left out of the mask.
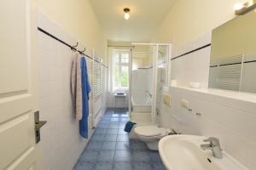
[[[89,0],[38,0],[38,10],[107,62],[107,39]]]

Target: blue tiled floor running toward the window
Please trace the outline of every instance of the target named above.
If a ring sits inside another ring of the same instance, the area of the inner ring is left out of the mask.
[[[165,170],[159,153],[124,132],[126,112],[107,111],[73,170]]]

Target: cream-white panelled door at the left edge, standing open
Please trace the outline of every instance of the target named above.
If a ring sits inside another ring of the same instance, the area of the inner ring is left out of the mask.
[[[38,109],[34,0],[0,1],[0,169],[35,169]]]

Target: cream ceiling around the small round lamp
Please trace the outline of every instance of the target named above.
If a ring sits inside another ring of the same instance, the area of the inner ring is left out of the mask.
[[[108,40],[149,42],[175,0],[90,0]],[[130,20],[124,8],[131,9]]]

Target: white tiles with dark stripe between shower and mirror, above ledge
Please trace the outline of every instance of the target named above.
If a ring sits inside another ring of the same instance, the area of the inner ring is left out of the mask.
[[[173,52],[172,57],[201,48],[211,42],[211,33],[189,42],[183,48]],[[177,85],[189,87],[189,82],[200,82],[202,88],[208,88],[211,47],[202,48],[191,54],[183,55],[171,61],[171,79],[177,80]]]

